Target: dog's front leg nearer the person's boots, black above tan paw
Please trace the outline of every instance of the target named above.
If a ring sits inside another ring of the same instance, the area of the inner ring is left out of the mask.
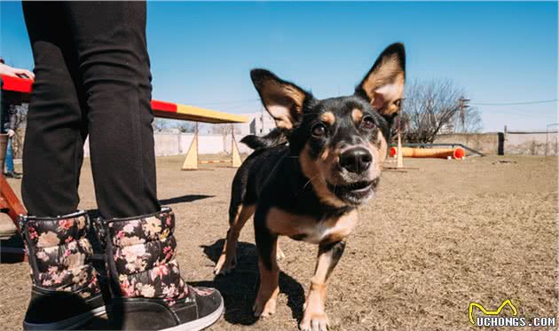
[[[258,212],[255,216],[255,235],[260,287],[253,311],[256,317],[266,317],[276,312],[279,294],[279,267],[276,260],[278,235],[270,232],[264,217],[258,217]]]

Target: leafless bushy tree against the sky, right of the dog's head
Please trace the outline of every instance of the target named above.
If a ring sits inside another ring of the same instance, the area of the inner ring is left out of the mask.
[[[400,119],[404,140],[432,143],[439,133],[456,132],[460,127],[463,131],[481,129],[479,112],[465,106],[463,96],[463,89],[451,80],[416,80],[406,84]]]

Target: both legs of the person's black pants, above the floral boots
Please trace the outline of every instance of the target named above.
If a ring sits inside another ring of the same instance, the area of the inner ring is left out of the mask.
[[[146,4],[23,3],[35,84],[23,152],[30,215],[74,212],[90,138],[103,217],[159,210]]]

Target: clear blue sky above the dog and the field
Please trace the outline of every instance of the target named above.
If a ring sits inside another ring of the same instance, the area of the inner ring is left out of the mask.
[[[319,98],[350,94],[384,47],[407,78],[451,78],[477,103],[557,99],[557,3],[178,3],[148,6],[154,99],[260,109],[248,72],[267,67]],[[0,4],[0,55],[33,59],[19,2]],[[228,102],[235,101],[235,102]],[[557,103],[478,106],[484,130],[545,129]]]

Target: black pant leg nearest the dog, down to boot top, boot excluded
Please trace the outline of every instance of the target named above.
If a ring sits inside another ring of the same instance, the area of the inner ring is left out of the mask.
[[[91,167],[103,217],[159,211],[146,4],[65,3],[89,109]]]

